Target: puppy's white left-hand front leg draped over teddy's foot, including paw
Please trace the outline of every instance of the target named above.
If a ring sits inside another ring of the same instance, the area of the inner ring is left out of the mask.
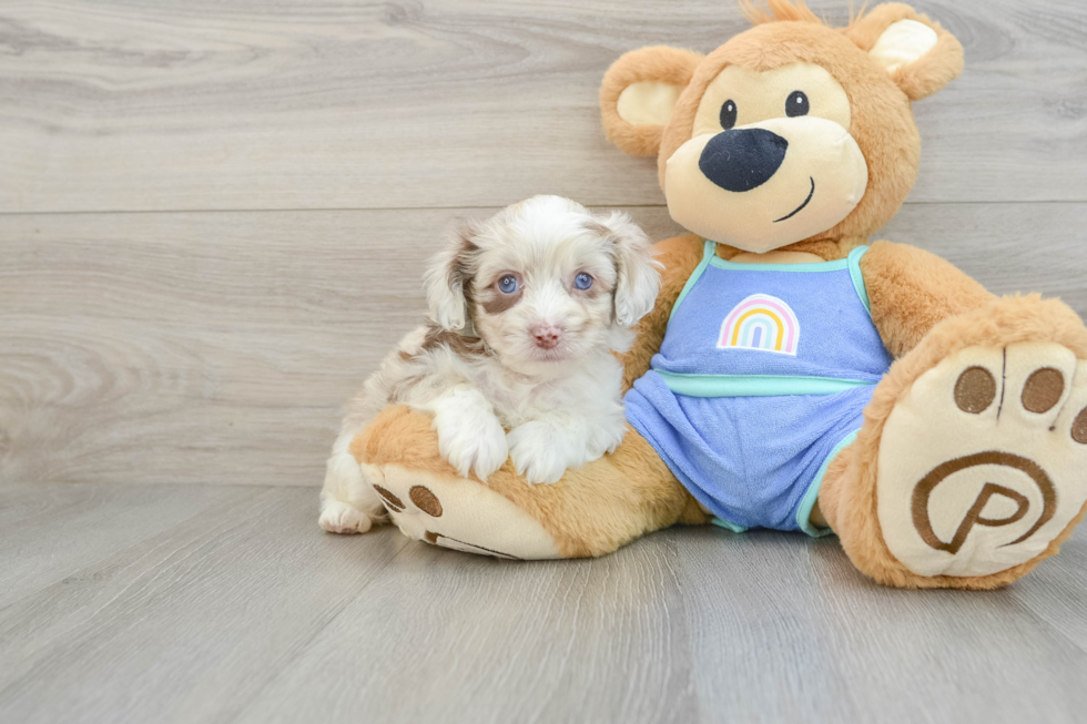
[[[509,457],[506,430],[495,416],[495,408],[482,394],[469,385],[458,385],[436,399],[434,429],[438,451],[465,478],[469,470],[486,481]]]

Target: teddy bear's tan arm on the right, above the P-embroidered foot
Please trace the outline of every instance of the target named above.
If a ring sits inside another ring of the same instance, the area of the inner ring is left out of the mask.
[[[861,272],[872,322],[895,359],[937,323],[995,298],[949,262],[907,244],[874,243],[861,258]]]

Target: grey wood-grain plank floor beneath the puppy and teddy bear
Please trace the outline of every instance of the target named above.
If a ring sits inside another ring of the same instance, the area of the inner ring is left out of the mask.
[[[325,534],[311,490],[0,496],[37,501],[26,550],[58,526],[85,541],[0,604],[4,722],[1063,724],[1087,705],[1084,530],[1007,590],[916,592],[769,531],[511,563]],[[111,522],[135,509],[172,522]],[[23,554],[0,545],[0,571]]]

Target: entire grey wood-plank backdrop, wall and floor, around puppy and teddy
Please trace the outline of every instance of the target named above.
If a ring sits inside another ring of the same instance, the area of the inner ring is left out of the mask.
[[[880,236],[1087,315],[1087,4],[914,4],[967,64],[916,104]],[[600,78],[744,27],[729,0],[0,4],[0,722],[1087,721],[1085,530],[965,594],[876,588],[833,539],[516,564],[316,527],[339,405],[418,322],[444,226],[559,193],[677,233]]]

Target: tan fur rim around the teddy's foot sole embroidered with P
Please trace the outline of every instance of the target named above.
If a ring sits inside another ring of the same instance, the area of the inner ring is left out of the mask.
[[[883,426],[891,410],[914,380],[949,355],[975,345],[1004,347],[1020,341],[1054,341],[1087,359],[1087,329],[1067,305],[1057,299],[1043,300],[1038,295],[1004,297],[936,325],[913,351],[891,367],[876,387],[872,402],[865,408],[864,427],[856,442],[834,461],[819,496],[823,516],[861,571],[898,588],[998,588],[1056,553],[1083,518],[1080,511],[1037,558],[986,577],[917,575],[900,563],[883,541],[876,516],[875,481]]]

